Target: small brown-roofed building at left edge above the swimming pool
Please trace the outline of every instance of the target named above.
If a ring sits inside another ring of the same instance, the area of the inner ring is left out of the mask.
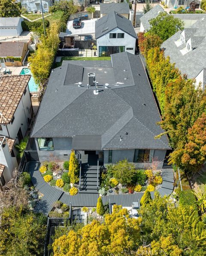
[[[0,65],[2,67],[22,66],[28,52],[27,42],[0,42]]]

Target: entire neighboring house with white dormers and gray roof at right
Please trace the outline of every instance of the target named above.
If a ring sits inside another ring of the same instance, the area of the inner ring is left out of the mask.
[[[203,18],[189,28],[178,31],[167,39],[161,48],[170,61],[187,74],[188,78],[195,78],[196,84],[206,86],[206,19]]]

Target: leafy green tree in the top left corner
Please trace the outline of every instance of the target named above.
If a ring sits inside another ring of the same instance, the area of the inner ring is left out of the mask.
[[[15,0],[0,0],[0,17],[19,17],[21,9]]]

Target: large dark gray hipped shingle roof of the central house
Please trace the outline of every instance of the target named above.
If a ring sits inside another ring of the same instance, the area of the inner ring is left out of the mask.
[[[73,66],[83,67],[82,87],[77,85],[79,69]],[[93,86],[86,89],[84,73],[88,75],[87,68],[91,66],[99,82],[98,95],[94,95]],[[113,83],[105,89],[110,76]],[[122,52],[112,55],[112,62],[69,61],[56,68],[50,75],[32,136],[100,135],[101,148],[169,149],[166,136],[154,139],[163,132],[156,124],[160,120],[141,58]]]

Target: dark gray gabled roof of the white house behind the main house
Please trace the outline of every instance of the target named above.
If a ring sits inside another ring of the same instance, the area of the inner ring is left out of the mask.
[[[130,36],[137,38],[132,22],[112,10],[95,22],[96,39],[109,33],[109,31],[112,31],[114,28],[119,28]]]

